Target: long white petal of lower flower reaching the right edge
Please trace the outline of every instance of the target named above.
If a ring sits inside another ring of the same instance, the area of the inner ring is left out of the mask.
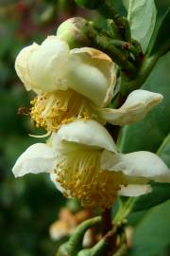
[[[139,151],[123,155],[105,151],[102,155],[102,168],[122,172],[127,175],[128,182],[130,176],[144,177],[145,181],[170,182],[170,170],[158,155],[151,152]]]

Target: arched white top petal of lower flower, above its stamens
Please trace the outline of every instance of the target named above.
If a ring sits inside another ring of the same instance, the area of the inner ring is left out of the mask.
[[[56,149],[62,140],[116,152],[115,143],[106,128],[94,120],[76,120],[61,125],[53,137],[52,146]]]

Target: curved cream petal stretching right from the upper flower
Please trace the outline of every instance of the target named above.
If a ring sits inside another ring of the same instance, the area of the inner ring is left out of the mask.
[[[100,119],[114,125],[130,124],[144,119],[147,112],[161,100],[162,95],[159,93],[135,90],[128,95],[127,101],[120,108],[94,108],[94,112]]]

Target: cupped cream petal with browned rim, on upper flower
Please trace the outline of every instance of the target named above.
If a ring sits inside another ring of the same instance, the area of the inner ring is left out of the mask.
[[[116,82],[115,66],[105,53],[90,47],[72,49],[67,84],[97,106],[107,105]]]

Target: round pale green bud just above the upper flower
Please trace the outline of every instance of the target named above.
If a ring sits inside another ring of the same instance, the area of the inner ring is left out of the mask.
[[[90,46],[90,39],[84,32],[88,22],[80,17],[75,17],[61,23],[57,30],[57,36],[67,42],[70,48]]]

